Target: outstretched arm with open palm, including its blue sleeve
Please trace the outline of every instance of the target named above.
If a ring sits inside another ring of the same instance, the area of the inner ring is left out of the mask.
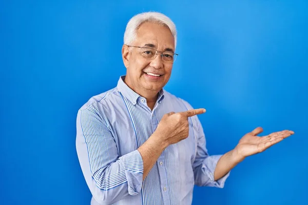
[[[184,103],[186,107],[191,109],[191,106],[187,102]],[[191,119],[195,119],[195,124],[197,125],[196,127],[198,130],[197,154],[193,169],[195,173],[195,183],[199,186],[223,188],[230,170],[243,161],[247,156],[263,152],[267,148],[294,134],[293,131],[283,130],[259,137],[257,135],[260,134],[263,129],[258,127],[252,132],[245,134],[233,150],[224,155],[208,156],[201,123],[197,116],[194,116]]]

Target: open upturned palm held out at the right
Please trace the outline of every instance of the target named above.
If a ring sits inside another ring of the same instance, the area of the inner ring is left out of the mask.
[[[263,132],[263,129],[258,127],[252,132],[245,134],[240,139],[239,144],[235,148],[236,154],[240,160],[243,160],[247,156],[263,152],[267,148],[282,141],[284,138],[294,134],[291,130],[283,130],[262,137],[257,136],[257,134],[261,132]]]

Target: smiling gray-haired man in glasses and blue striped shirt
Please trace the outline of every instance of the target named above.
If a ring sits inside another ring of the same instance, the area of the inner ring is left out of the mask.
[[[176,27],[156,12],[132,17],[124,34],[127,69],[117,87],[78,112],[76,149],[91,204],[191,204],[194,185],[223,188],[249,155],[294,134],[245,134],[224,155],[209,156],[197,114],[163,90],[176,59]]]

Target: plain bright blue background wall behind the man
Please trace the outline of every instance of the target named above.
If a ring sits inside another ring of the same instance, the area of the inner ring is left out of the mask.
[[[193,204],[308,204],[307,1],[2,1],[0,204],[89,204],[76,113],[125,74],[125,26],[144,11],[177,26],[165,89],[207,109],[210,154],[258,126],[295,131]]]

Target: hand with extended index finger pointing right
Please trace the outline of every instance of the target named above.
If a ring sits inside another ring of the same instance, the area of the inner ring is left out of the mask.
[[[153,136],[159,138],[165,147],[186,139],[189,133],[188,117],[202,113],[205,113],[203,108],[167,113],[159,122]]]

